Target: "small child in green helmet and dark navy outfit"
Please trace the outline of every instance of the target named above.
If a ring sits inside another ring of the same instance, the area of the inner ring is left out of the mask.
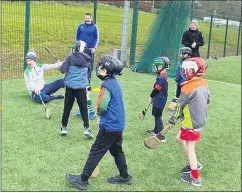
[[[171,65],[170,60],[167,57],[159,57],[154,59],[153,64],[157,72],[156,82],[153,86],[153,90],[150,94],[150,102],[153,103],[152,115],[155,117],[155,127],[147,132],[151,135],[158,134],[164,128],[162,122],[162,112],[167,101],[168,80],[166,69]],[[165,142],[165,136],[162,136],[161,142]]]

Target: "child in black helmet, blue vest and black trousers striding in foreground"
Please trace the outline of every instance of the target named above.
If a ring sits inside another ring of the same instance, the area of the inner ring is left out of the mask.
[[[88,188],[88,179],[107,151],[115,159],[120,175],[108,178],[112,184],[131,184],[125,155],[122,149],[125,111],[121,87],[114,77],[121,75],[123,64],[112,56],[103,56],[96,74],[103,81],[97,100],[97,114],[100,116],[99,132],[89,157],[80,175],[66,174],[66,180],[80,190]]]

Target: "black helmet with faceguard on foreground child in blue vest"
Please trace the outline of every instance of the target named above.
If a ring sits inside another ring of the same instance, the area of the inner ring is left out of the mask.
[[[105,68],[107,70],[107,76],[102,77],[99,74],[99,70]],[[123,63],[113,57],[113,56],[103,56],[101,57],[100,61],[98,62],[96,66],[96,74],[97,77],[100,78],[101,80],[104,80],[106,77],[112,77],[115,75],[122,75],[122,70],[124,68]]]

